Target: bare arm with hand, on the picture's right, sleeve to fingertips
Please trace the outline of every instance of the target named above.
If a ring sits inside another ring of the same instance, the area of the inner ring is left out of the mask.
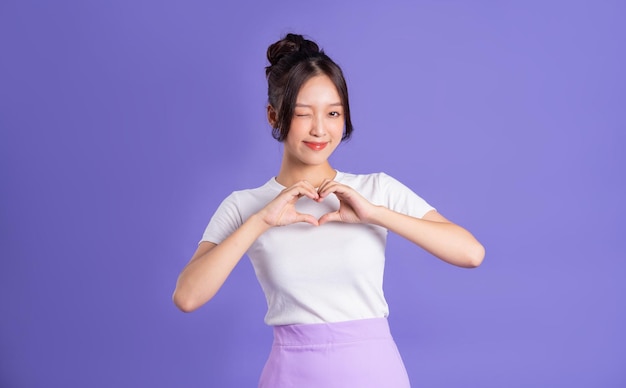
[[[326,222],[369,223],[382,226],[419,245],[450,264],[474,268],[485,256],[485,248],[466,229],[448,221],[431,210],[423,218],[415,218],[377,206],[349,186],[325,181],[319,189],[322,201],[331,193],[339,198],[339,209],[320,218]]]

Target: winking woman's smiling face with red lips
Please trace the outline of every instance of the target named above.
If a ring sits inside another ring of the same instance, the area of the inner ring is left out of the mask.
[[[284,157],[303,165],[325,164],[341,143],[344,129],[343,105],[335,84],[325,75],[302,85],[291,127],[285,139]]]

